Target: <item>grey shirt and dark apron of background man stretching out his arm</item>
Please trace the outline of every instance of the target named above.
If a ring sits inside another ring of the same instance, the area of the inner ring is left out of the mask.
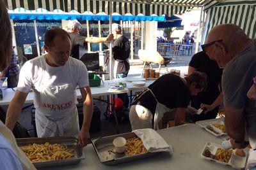
[[[84,40],[86,37],[77,33],[68,33],[71,41],[71,53],[70,56],[75,59],[79,59],[79,46],[84,46]]]

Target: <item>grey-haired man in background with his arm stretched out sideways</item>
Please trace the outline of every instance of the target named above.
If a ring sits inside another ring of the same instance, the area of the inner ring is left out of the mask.
[[[104,43],[111,41],[114,37],[113,34],[109,34],[106,38],[99,37],[85,37],[81,36],[82,25],[77,20],[70,20],[68,22],[67,31],[71,40],[71,53],[70,56],[75,59],[79,59],[79,46],[83,47],[84,43]]]

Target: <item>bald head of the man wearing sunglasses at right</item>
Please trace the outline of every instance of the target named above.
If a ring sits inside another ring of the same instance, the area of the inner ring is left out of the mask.
[[[217,42],[212,43],[214,41]],[[206,47],[204,50],[211,59],[218,62],[220,67],[224,67],[250,41],[252,39],[246,36],[243,29],[237,25],[222,24],[211,29],[205,44],[212,43],[212,45]]]

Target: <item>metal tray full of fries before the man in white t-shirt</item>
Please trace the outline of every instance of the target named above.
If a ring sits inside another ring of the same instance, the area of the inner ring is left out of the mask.
[[[83,148],[78,144],[78,138],[76,137],[49,137],[49,138],[19,138],[16,139],[18,146],[26,146],[36,144],[44,144],[49,142],[50,144],[66,145],[68,149],[74,150],[74,157],[70,159],[51,160],[42,162],[32,162],[35,167],[49,167],[49,166],[63,166],[70,164],[77,164],[84,159]]]

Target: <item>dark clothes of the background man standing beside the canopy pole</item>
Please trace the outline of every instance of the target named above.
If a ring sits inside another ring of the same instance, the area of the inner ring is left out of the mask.
[[[130,64],[127,59],[130,56],[130,48],[130,41],[124,35],[120,36],[114,41],[112,53],[113,58],[118,61],[116,73],[124,73],[125,71],[129,71]]]

